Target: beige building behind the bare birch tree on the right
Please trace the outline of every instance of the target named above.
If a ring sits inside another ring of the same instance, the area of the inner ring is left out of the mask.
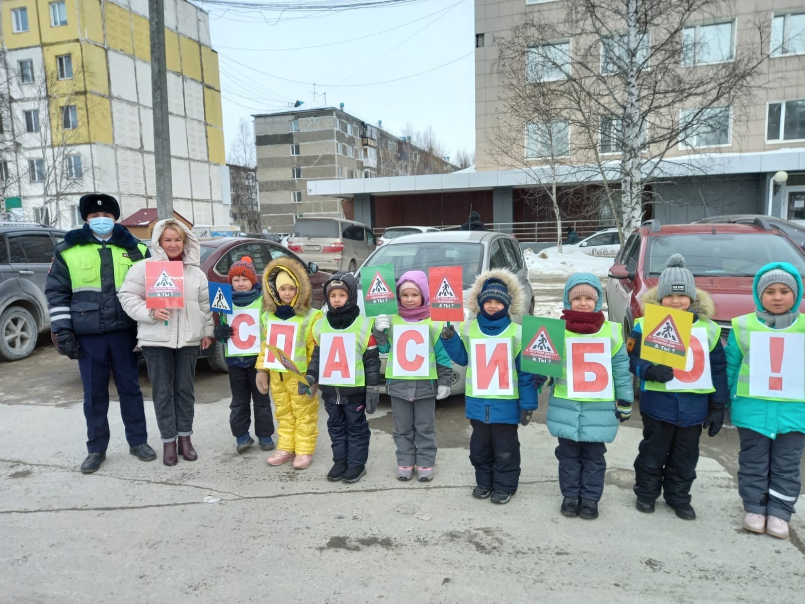
[[[548,25],[566,19],[572,0],[476,0],[476,154],[479,172],[505,172],[522,168],[496,153],[493,144],[500,128],[506,97],[500,69],[498,44],[510,37],[513,27],[533,18]],[[617,3],[616,3],[617,4]],[[623,3],[625,6],[625,2]],[[708,14],[694,15],[684,24],[679,39],[679,68],[694,72],[736,60],[741,50],[765,54],[753,83],[758,88],[734,105],[713,106],[695,130],[687,133],[695,149],[680,143],[669,150],[666,159],[677,162],[674,176],[652,185],[655,199],[678,200],[679,203],[654,204],[654,217],[667,221],[689,221],[708,213],[773,213],[780,217],[805,219],[805,6],[795,0],[734,0],[716,3]],[[759,21],[758,21],[759,20]],[[758,30],[758,26],[760,30]],[[557,28],[558,29],[558,28]],[[646,35],[646,51],[654,43]],[[602,75],[609,73],[611,48],[601,41]],[[540,66],[526,60],[522,78],[561,80],[570,72],[580,48],[587,41],[562,38],[551,40],[555,56],[566,57],[565,64]],[[689,52],[689,49],[696,52]],[[701,52],[700,52],[701,51]],[[638,53],[639,56],[639,53]],[[570,110],[568,108],[568,110]],[[668,112],[680,122],[686,112],[696,110],[696,101],[679,104]],[[674,114],[674,111],[678,113]],[[560,118],[559,118],[560,119]],[[618,120],[601,116],[599,151],[616,158]],[[560,122],[555,122],[559,124]],[[533,155],[538,164],[540,148],[545,143],[545,123],[530,123],[522,131],[510,133],[521,137],[523,153]],[[700,130],[699,130],[700,129]],[[578,165],[584,159],[574,139],[572,127],[555,129],[553,149],[564,149],[568,163]],[[683,168],[684,166],[684,168]],[[785,172],[774,175],[778,172]],[[787,176],[787,180],[786,179]],[[577,182],[568,182],[576,185]],[[515,201],[517,199],[515,185]],[[525,217],[515,207],[515,217]]]

